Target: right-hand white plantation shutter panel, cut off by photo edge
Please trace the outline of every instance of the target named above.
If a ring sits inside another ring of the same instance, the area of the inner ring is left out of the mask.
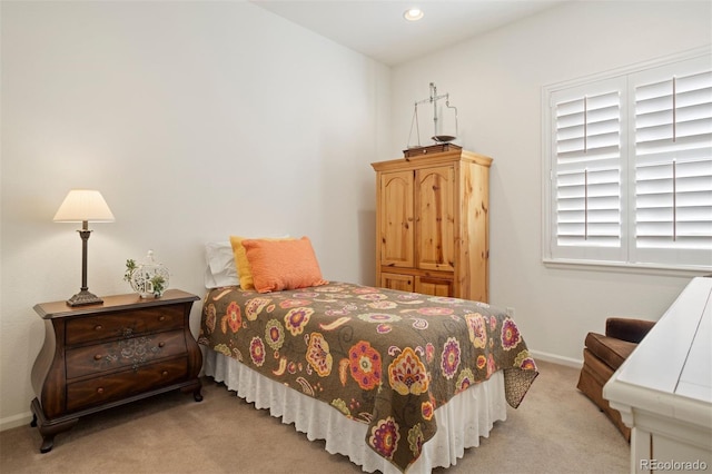
[[[688,265],[712,261],[709,62],[685,61],[632,77],[634,260]]]

